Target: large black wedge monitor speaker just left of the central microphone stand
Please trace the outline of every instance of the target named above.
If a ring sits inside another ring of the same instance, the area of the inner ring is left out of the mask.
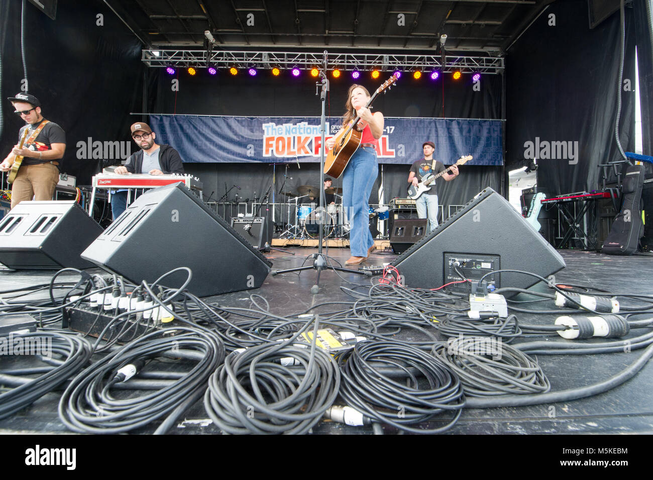
[[[152,282],[187,266],[187,289],[198,296],[258,288],[272,264],[222,217],[181,184],[151,189],[138,197],[82,257],[133,283]],[[180,287],[176,272],[161,283]]]

